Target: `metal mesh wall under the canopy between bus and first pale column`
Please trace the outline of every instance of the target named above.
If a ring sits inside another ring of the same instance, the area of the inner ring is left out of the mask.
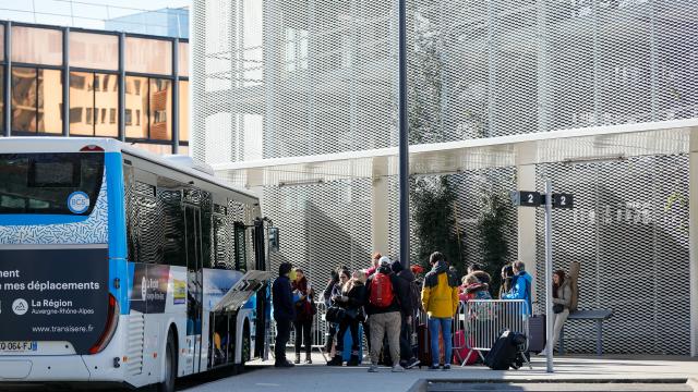
[[[272,271],[284,261],[306,271],[316,292],[329,270],[368,268],[371,261],[371,180],[266,187],[265,215],[282,233],[270,254]]]

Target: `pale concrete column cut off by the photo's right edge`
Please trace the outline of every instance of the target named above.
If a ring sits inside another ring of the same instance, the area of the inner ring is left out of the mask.
[[[698,131],[690,135],[689,152],[689,274],[690,274],[690,356],[698,356]]]

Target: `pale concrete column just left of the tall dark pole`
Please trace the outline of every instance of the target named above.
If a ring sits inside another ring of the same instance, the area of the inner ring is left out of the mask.
[[[373,158],[373,185],[371,187],[371,246],[372,252],[388,255],[389,208],[388,159]],[[393,195],[397,197],[397,194]]]

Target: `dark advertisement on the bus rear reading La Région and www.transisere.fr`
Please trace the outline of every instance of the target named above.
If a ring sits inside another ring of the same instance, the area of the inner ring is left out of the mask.
[[[87,354],[107,322],[108,279],[107,247],[0,249],[0,342],[64,341]]]

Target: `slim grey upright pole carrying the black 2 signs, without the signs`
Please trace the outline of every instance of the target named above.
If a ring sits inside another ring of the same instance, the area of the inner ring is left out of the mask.
[[[545,365],[553,372],[553,183],[545,181]]]

